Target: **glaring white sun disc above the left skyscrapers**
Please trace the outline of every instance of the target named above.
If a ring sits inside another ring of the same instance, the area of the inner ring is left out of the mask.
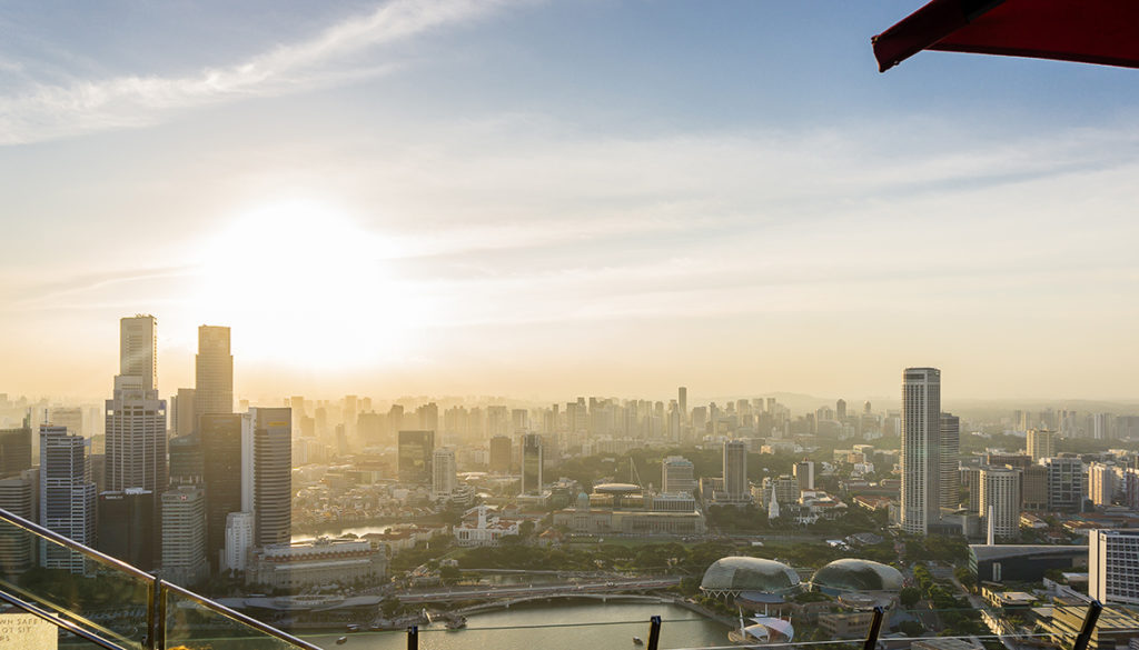
[[[202,252],[196,313],[248,359],[333,369],[402,356],[410,306],[382,238],[306,200],[241,214]]]

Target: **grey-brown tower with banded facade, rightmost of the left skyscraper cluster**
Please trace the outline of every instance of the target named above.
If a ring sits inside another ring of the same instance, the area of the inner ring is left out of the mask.
[[[292,410],[249,409],[243,422],[243,437],[253,435],[254,545],[287,544],[293,526]]]

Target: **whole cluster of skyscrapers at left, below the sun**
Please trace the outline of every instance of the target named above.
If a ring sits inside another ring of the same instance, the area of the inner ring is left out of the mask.
[[[288,408],[235,413],[229,328],[202,326],[195,387],[174,400],[172,418],[183,435],[169,439],[156,326],[151,315],[120,322],[120,372],[104,410],[103,491],[96,492],[90,442],[77,427],[41,425],[32,467],[25,420],[0,433],[0,508],[192,584],[211,571],[243,569],[253,548],[289,542],[292,414]],[[26,566],[38,559],[85,570],[79,556],[56,548],[23,553]]]

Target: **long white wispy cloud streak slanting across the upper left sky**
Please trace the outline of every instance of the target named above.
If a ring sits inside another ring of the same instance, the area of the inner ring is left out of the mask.
[[[277,96],[383,74],[394,63],[337,69],[351,55],[499,10],[508,0],[392,0],[308,41],[180,77],[118,76],[35,84],[0,96],[0,146],[146,126],[178,109]]]

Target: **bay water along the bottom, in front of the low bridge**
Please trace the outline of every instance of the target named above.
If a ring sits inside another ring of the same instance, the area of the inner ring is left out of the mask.
[[[557,602],[557,601],[556,601]],[[662,618],[662,650],[730,645],[728,628],[675,604],[618,602],[515,606],[468,617],[467,627],[419,630],[423,650],[638,650],[633,636],[648,641],[649,617]],[[304,635],[321,648],[404,650],[405,632],[359,632],[336,645],[343,633]]]

